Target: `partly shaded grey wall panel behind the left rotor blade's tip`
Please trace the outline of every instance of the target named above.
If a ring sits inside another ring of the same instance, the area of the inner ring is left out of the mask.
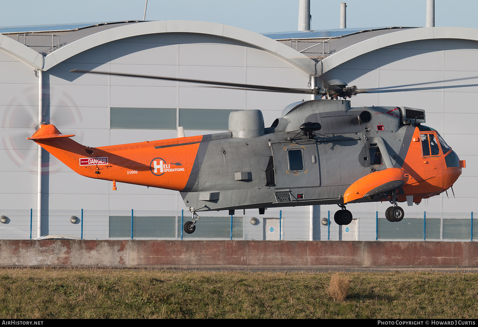
[[[72,69],[108,71],[108,64],[60,63],[43,73],[44,85],[108,85],[108,76],[87,73],[70,73]]]

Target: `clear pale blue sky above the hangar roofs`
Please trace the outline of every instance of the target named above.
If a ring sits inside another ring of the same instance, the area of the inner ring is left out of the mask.
[[[2,1],[0,26],[142,19],[145,0]],[[312,29],[339,27],[340,2],[311,0]],[[348,0],[347,27],[424,26],[426,0]],[[146,20],[217,22],[257,33],[297,30],[299,0],[148,0]],[[478,28],[477,0],[435,0],[435,25]]]

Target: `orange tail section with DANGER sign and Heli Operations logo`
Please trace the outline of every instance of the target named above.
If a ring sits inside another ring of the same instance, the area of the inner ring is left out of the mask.
[[[98,148],[81,145],[71,136],[75,135],[61,134],[54,125],[42,125],[29,140],[90,178],[176,191],[189,189],[196,181],[193,167],[202,135]]]

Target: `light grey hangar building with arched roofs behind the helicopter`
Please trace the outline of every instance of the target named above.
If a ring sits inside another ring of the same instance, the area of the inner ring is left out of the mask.
[[[311,78],[315,85],[338,78],[368,88],[478,75],[478,30],[467,28],[258,34],[209,22],[128,21],[1,27],[0,33],[0,208],[4,209],[37,207],[38,147],[26,138],[38,125],[39,76],[42,121],[95,147],[174,138],[179,126],[186,136],[225,131],[232,110],[261,109],[269,126],[285,106],[304,96],[69,73],[74,68],[298,88],[310,87]],[[440,83],[456,84],[430,86]],[[415,211],[475,209],[477,92],[478,87],[464,87],[351,99],[353,107],[425,109],[426,125],[439,131],[467,161],[454,187],[456,199],[435,196],[419,209],[414,206]],[[41,165],[43,210],[186,209],[178,192],[128,184],[112,191],[112,182],[84,178],[45,151]],[[349,209],[386,207],[355,204]]]

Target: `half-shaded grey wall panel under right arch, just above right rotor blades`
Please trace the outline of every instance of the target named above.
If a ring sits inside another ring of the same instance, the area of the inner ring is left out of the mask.
[[[442,53],[437,50],[380,49],[381,69],[442,70]]]

